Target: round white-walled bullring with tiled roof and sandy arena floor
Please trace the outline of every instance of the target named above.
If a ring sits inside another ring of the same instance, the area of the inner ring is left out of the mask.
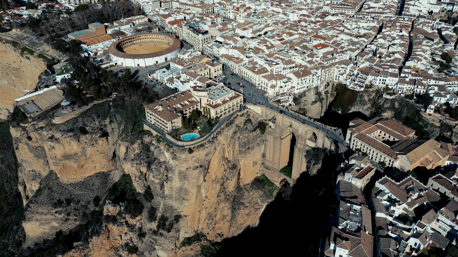
[[[162,33],[140,33],[121,38],[108,48],[114,65],[149,66],[173,59],[181,42]]]

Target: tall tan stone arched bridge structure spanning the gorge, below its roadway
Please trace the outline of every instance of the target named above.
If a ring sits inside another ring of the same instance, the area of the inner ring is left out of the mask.
[[[286,179],[293,185],[300,173],[306,171],[307,161],[305,151],[312,147],[333,149],[333,142],[316,126],[307,124],[272,110],[262,105],[247,104],[247,107],[262,116],[267,123],[264,148],[264,174],[274,183]],[[293,141],[293,142],[292,142]],[[291,143],[294,143],[291,146]],[[294,151],[290,156],[290,151]],[[292,159],[291,159],[292,158]],[[280,173],[284,166],[292,164],[292,176],[286,177]]]

